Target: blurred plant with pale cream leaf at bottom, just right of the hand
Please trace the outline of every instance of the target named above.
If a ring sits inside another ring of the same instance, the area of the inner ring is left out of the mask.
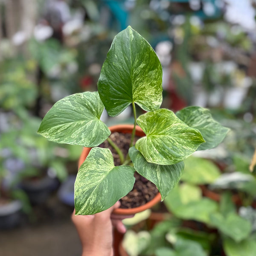
[[[184,229],[178,219],[170,218],[153,230],[135,233],[128,230],[119,246],[120,256],[207,256],[207,233]]]

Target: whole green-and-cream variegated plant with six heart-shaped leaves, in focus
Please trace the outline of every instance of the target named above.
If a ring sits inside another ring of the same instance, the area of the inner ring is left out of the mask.
[[[156,184],[164,199],[180,179],[182,161],[198,149],[215,147],[227,134],[207,109],[188,107],[175,115],[160,109],[161,103],[160,61],[148,42],[128,26],[113,40],[98,92],[67,96],[49,110],[38,133],[58,143],[93,147],[76,178],[76,214],[111,207],[133,188],[135,170]],[[135,104],[148,112],[137,118]],[[130,149],[127,157],[117,150],[122,165],[114,166],[111,151],[97,147],[105,140],[113,144],[100,117],[104,107],[110,116],[117,116],[129,105],[134,113]],[[145,137],[134,145],[135,125]]]

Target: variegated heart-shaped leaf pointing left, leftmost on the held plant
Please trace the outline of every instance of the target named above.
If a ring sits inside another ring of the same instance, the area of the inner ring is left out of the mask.
[[[76,93],[56,102],[38,133],[58,143],[95,147],[111,134],[100,120],[104,105],[97,92]]]

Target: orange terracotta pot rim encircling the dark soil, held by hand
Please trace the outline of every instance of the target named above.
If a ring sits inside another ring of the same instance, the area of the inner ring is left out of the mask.
[[[133,128],[134,128],[134,125],[114,125],[114,126],[109,127],[111,132],[116,131],[116,132],[121,132],[124,134],[127,134],[127,133],[131,134]],[[136,126],[136,135],[141,136],[141,137],[143,137],[145,135],[139,126]],[[79,167],[84,162],[84,160],[87,157],[87,155],[89,154],[90,150],[91,150],[91,148],[83,149],[81,156],[79,158],[79,163],[78,163]],[[148,203],[146,203],[140,207],[135,207],[135,208],[131,208],[131,209],[119,208],[119,209],[114,210],[113,213],[119,214],[119,215],[131,215],[131,214],[135,214],[137,212],[143,212],[146,209],[149,209],[153,205],[157,204],[160,200],[161,200],[161,195],[160,195],[160,193],[158,193],[151,201],[149,201]]]

